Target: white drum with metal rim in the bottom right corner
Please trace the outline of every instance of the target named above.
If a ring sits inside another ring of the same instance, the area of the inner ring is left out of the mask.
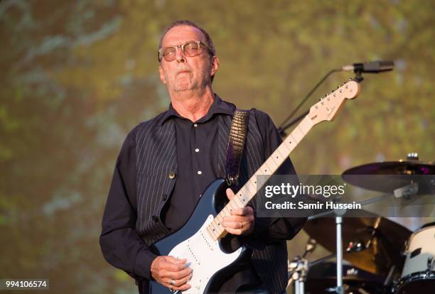
[[[396,294],[435,293],[435,222],[414,232],[405,244],[404,267],[392,289]]]

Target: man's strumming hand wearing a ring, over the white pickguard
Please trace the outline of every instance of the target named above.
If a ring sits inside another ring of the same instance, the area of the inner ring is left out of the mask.
[[[173,256],[157,256],[151,263],[151,276],[171,290],[184,291],[192,277],[192,269],[186,268],[186,259]]]

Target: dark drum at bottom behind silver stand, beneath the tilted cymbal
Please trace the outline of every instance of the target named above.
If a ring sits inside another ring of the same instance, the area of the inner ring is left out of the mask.
[[[337,285],[336,263],[325,262],[311,266],[305,283],[306,294],[335,293],[331,288]],[[384,294],[387,289],[383,285],[385,278],[363,271],[355,266],[343,264],[344,293]],[[420,293],[421,294],[421,293]]]

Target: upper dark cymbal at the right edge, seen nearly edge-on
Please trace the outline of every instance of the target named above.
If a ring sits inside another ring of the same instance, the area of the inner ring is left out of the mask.
[[[431,162],[399,160],[368,163],[350,168],[341,176],[346,182],[368,190],[392,193],[410,183],[419,183],[417,194],[435,193],[435,163]]]

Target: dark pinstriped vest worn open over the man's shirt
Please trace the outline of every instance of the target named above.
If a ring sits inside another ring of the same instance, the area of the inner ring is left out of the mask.
[[[154,119],[139,124],[136,133],[136,232],[147,245],[169,234],[159,216],[176,181],[172,173],[177,173],[178,170],[175,126],[171,119],[162,124],[164,114],[163,112]],[[232,116],[220,115],[217,119],[218,170],[219,176],[223,177]],[[264,158],[263,146],[255,115],[251,111],[245,151],[240,165],[241,185],[244,185],[267,159]],[[255,207],[255,203],[252,204]],[[281,293],[287,284],[286,241],[262,244],[261,240],[257,240],[256,244],[251,256],[254,268],[272,293]]]

